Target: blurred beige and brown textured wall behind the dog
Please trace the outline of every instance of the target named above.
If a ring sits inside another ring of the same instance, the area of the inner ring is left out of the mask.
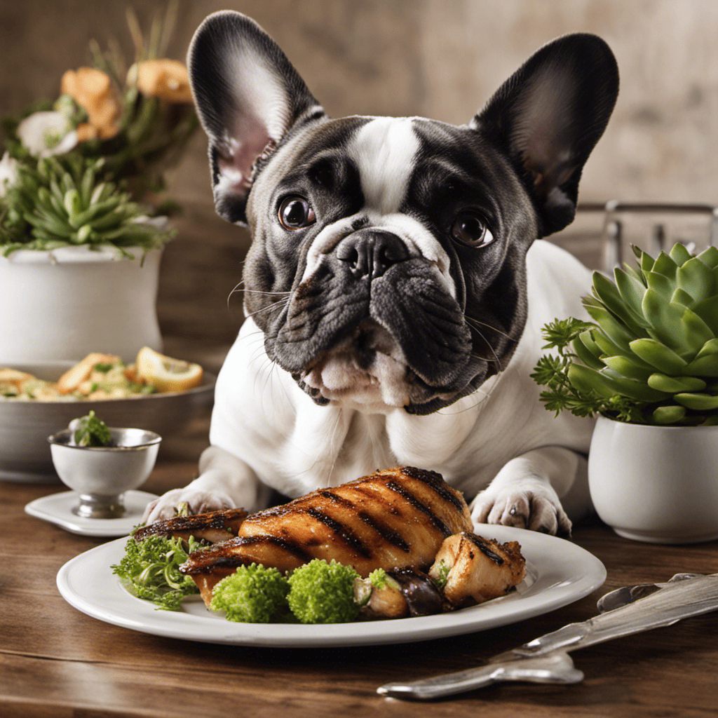
[[[0,0],[0,111],[54,95],[89,37],[127,40],[124,1]],[[162,3],[136,0],[142,17]],[[183,57],[205,15],[229,7],[272,34],[333,116],[424,115],[463,123],[544,42],[595,32],[613,48],[621,92],[589,159],[581,199],[718,203],[718,3],[714,0],[180,1],[173,46]],[[164,261],[164,331],[228,342],[241,322],[247,237],[215,218],[205,141],[197,137],[172,190],[185,202]]]

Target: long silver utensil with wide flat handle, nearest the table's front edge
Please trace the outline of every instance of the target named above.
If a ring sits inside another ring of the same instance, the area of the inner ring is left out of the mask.
[[[718,609],[718,574],[674,578],[676,580],[671,579],[666,584],[656,584],[658,590],[650,595],[583,623],[569,623],[513,651],[500,653],[477,668],[409,683],[390,683],[378,688],[377,692],[392,698],[427,701],[501,681],[578,683],[584,674],[574,668],[569,651],[661,628]]]

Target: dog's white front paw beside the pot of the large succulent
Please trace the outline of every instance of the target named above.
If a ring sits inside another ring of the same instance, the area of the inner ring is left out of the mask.
[[[571,535],[571,521],[550,485],[526,481],[509,486],[489,486],[472,501],[475,523],[501,523],[531,531]]]

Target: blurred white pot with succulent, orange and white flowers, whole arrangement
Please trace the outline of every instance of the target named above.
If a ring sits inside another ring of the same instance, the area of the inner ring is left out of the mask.
[[[0,160],[0,362],[133,357],[162,349],[155,302],[172,237],[164,172],[197,128],[187,72],[163,57],[177,6],[135,62],[90,43],[92,67],[67,70],[54,103],[3,121]]]

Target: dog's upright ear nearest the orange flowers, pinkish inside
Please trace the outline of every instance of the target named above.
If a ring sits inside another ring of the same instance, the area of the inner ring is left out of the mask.
[[[269,156],[295,123],[324,111],[276,42],[238,12],[217,12],[202,22],[187,52],[187,70],[210,140],[217,212],[246,223],[258,159]]]

